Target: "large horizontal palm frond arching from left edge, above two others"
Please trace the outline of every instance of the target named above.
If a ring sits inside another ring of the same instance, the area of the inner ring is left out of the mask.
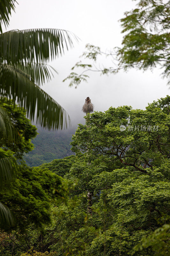
[[[73,47],[73,38],[78,41],[77,36],[62,29],[11,30],[0,34],[1,57],[8,64],[21,61],[46,63],[63,55],[69,45]]]

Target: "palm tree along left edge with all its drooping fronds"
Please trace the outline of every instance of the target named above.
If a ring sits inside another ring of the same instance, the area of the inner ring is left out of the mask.
[[[43,127],[63,128],[70,118],[66,111],[40,85],[49,81],[54,68],[47,62],[73,46],[72,33],[61,29],[11,30],[3,33],[2,25],[9,25],[11,11],[16,0],[2,0],[0,3],[0,96],[18,102],[27,115]],[[0,108],[0,130],[4,140],[13,140],[13,126],[3,108]],[[0,175],[9,181],[15,161],[12,153],[1,152]],[[13,223],[9,209],[0,204],[1,220]]]

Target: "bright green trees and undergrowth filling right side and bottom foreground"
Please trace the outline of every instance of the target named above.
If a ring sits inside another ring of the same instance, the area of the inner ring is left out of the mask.
[[[167,96],[146,110],[111,107],[86,116],[72,138],[76,156],[33,169],[67,180],[67,200],[51,204],[50,225],[3,233],[2,255],[10,255],[11,244],[17,256],[169,255],[169,106]]]

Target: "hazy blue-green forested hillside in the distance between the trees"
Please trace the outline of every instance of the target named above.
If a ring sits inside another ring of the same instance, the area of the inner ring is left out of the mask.
[[[39,166],[53,159],[73,155],[70,150],[73,128],[67,130],[46,130],[38,126],[37,136],[32,140],[34,150],[25,154],[24,160],[29,166]]]

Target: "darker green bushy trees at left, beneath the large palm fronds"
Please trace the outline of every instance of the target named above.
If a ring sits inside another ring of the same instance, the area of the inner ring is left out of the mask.
[[[5,214],[1,212],[0,225],[4,230],[18,228],[23,232],[30,224],[41,227],[42,224],[50,222],[51,200],[62,198],[66,185],[63,185],[61,177],[48,169],[30,168],[23,163],[23,154],[33,149],[31,139],[37,134],[36,127],[26,118],[26,111],[12,101],[1,99],[0,107],[5,110],[16,134],[15,140],[6,139],[3,133],[0,136],[0,163],[3,170],[0,202],[1,208],[8,214],[5,218]],[[12,166],[6,172],[4,159],[8,160],[7,166],[9,163]],[[11,214],[9,209],[15,223],[8,220]]]

